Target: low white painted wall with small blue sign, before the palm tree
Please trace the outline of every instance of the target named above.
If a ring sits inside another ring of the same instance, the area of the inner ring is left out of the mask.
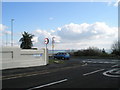
[[[2,69],[42,66],[48,64],[48,50],[29,50],[18,47],[2,47]]]

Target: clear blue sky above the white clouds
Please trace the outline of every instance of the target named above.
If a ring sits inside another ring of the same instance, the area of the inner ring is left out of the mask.
[[[3,3],[3,24],[10,26],[10,19],[14,18],[16,28],[23,31],[27,29],[26,26],[28,30],[54,29],[71,22],[104,21],[117,26],[117,12],[117,8],[108,6],[107,2],[9,2]]]

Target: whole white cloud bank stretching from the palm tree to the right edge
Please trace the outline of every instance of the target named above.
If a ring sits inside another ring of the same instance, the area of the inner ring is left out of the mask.
[[[118,28],[110,27],[105,22],[70,23],[56,30],[37,29],[34,35],[36,46],[44,47],[44,38],[49,38],[49,49],[51,49],[52,37],[55,37],[55,49],[82,49],[89,46],[110,49],[113,41],[118,39]]]

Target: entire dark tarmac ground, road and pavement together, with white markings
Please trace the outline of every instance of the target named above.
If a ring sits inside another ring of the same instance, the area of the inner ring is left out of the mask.
[[[71,58],[62,64],[3,70],[4,89],[113,88],[119,90],[120,61]]]

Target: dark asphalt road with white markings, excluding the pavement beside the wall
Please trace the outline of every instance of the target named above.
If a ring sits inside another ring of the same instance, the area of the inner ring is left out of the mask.
[[[78,61],[72,59],[69,62]],[[83,65],[64,67],[55,71],[37,73],[2,80],[2,88],[120,88],[120,66],[118,60],[80,60]],[[79,64],[79,63],[78,63]]]

